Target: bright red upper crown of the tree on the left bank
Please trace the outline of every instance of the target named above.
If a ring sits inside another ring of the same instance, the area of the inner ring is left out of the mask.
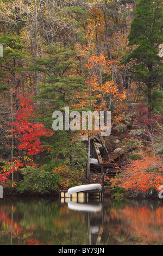
[[[36,118],[35,105],[32,99],[27,96],[18,96],[20,108],[15,113],[14,135],[18,140],[18,150],[24,150],[27,155],[36,155],[43,149],[40,138],[42,136],[49,137],[52,135],[43,127],[43,124],[37,123],[32,118]]]

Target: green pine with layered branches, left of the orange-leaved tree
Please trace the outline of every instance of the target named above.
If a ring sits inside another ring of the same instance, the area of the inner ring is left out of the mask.
[[[37,62],[39,71],[45,74],[38,98],[53,106],[70,105],[84,84],[78,73],[76,52],[56,43],[47,47],[46,54],[47,57]]]

